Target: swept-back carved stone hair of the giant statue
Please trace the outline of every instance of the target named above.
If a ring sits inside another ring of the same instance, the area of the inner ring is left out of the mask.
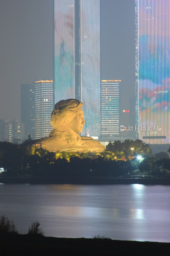
[[[53,129],[59,128],[60,125],[69,125],[69,122],[76,116],[78,108],[82,106],[83,103],[75,99],[60,100],[57,102],[51,113],[51,125]]]

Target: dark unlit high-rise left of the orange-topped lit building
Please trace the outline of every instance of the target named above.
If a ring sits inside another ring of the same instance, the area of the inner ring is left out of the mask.
[[[25,124],[25,140],[28,134],[34,139],[34,86],[21,84],[21,122]]]

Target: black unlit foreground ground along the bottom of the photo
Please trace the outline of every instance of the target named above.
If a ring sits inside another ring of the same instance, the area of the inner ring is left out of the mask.
[[[170,255],[170,243],[0,234],[0,255]]]

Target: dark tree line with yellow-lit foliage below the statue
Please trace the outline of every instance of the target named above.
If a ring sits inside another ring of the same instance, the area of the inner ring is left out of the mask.
[[[165,154],[161,152],[154,157],[141,140],[109,142],[106,151],[95,156],[49,152],[26,142],[21,145],[0,142],[0,167],[7,177],[117,177],[135,170],[156,173],[162,168],[168,172],[170,159]],[[137,159],[138,155],[142,156],[141,160]]]

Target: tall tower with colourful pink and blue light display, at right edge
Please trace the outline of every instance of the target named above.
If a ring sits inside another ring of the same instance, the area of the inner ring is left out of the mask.
[[[170,1],[136,0],[136,130],[170,143]]]

